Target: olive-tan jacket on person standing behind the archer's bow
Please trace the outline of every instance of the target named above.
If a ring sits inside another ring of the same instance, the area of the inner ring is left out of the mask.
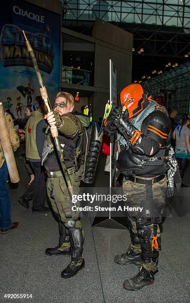
[[[43,133],[45,139],[45,129],[41,128],[37,130],[38,124],[41,120],[44,120],[44,114],[39,110],[32,111],[32,115],[26,123],[25,131],[26,157],[37,161],[40,161],[41,159],[41,154],[39,155],[39,144],[43,146]],[[39,132],[38,134],[37,131]],[[38,143],[39,138],[41,138],[41,141],[43,142]]]

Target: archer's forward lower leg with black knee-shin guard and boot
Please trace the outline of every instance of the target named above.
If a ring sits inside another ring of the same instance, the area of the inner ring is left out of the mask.
[[[83,235],[81,228],[76,228],[74,221],[66,222],[69,229],[72,257],[69,265],[61,272],[61,277],[71,278],[85,267],[83,258]]]

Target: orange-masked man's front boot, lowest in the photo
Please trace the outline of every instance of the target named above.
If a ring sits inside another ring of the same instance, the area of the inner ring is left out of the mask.
[[[139,273],[135,277],[124,281],[123,287],[127,290],[135,291],[152,283],[154,283],[154,275],[152,272],[150,273],[150,271],[141,267]]]

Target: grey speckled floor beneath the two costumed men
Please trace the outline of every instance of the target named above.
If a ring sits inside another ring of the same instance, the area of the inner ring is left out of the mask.
[[[123,281],[138,272],[135,265],[114,263],[115,254],[126,251],[130,237],[127,229],[91,227],[82,215],[86,238],[85,268],[75,277],[62,279],[60,273],[69,256],[47,256],[47,247],[56,246],[57,223],[51,213],[33,214],[18,198],[28,182],[22,153],[17,153],[20,184],[10,189],[12,221],[19,221],[14,232],[0,235],[0,303],[189,303],[190,302],[190,198],[184,194],[168,201],[162,224],[162,250],[155,283],[140,291],[123,289]],[[105,187],[109,176],[103,174],[105,159],[100,158],[96,187]],[[190,186],[190,169],[184,183]],[[189,184],[188,184],[189,182]],[[32,206],[32,205],[31,205]],[[6,299],[5,294],[28,294],[32,299]]]

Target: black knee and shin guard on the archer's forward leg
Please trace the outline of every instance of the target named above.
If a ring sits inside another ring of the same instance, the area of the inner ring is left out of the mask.
[[[76,228],[75,221],[64,222],[69,230],[69,239],[72,249],[72,259],[80,259],[83,253],[83,235],[81,228]]]

